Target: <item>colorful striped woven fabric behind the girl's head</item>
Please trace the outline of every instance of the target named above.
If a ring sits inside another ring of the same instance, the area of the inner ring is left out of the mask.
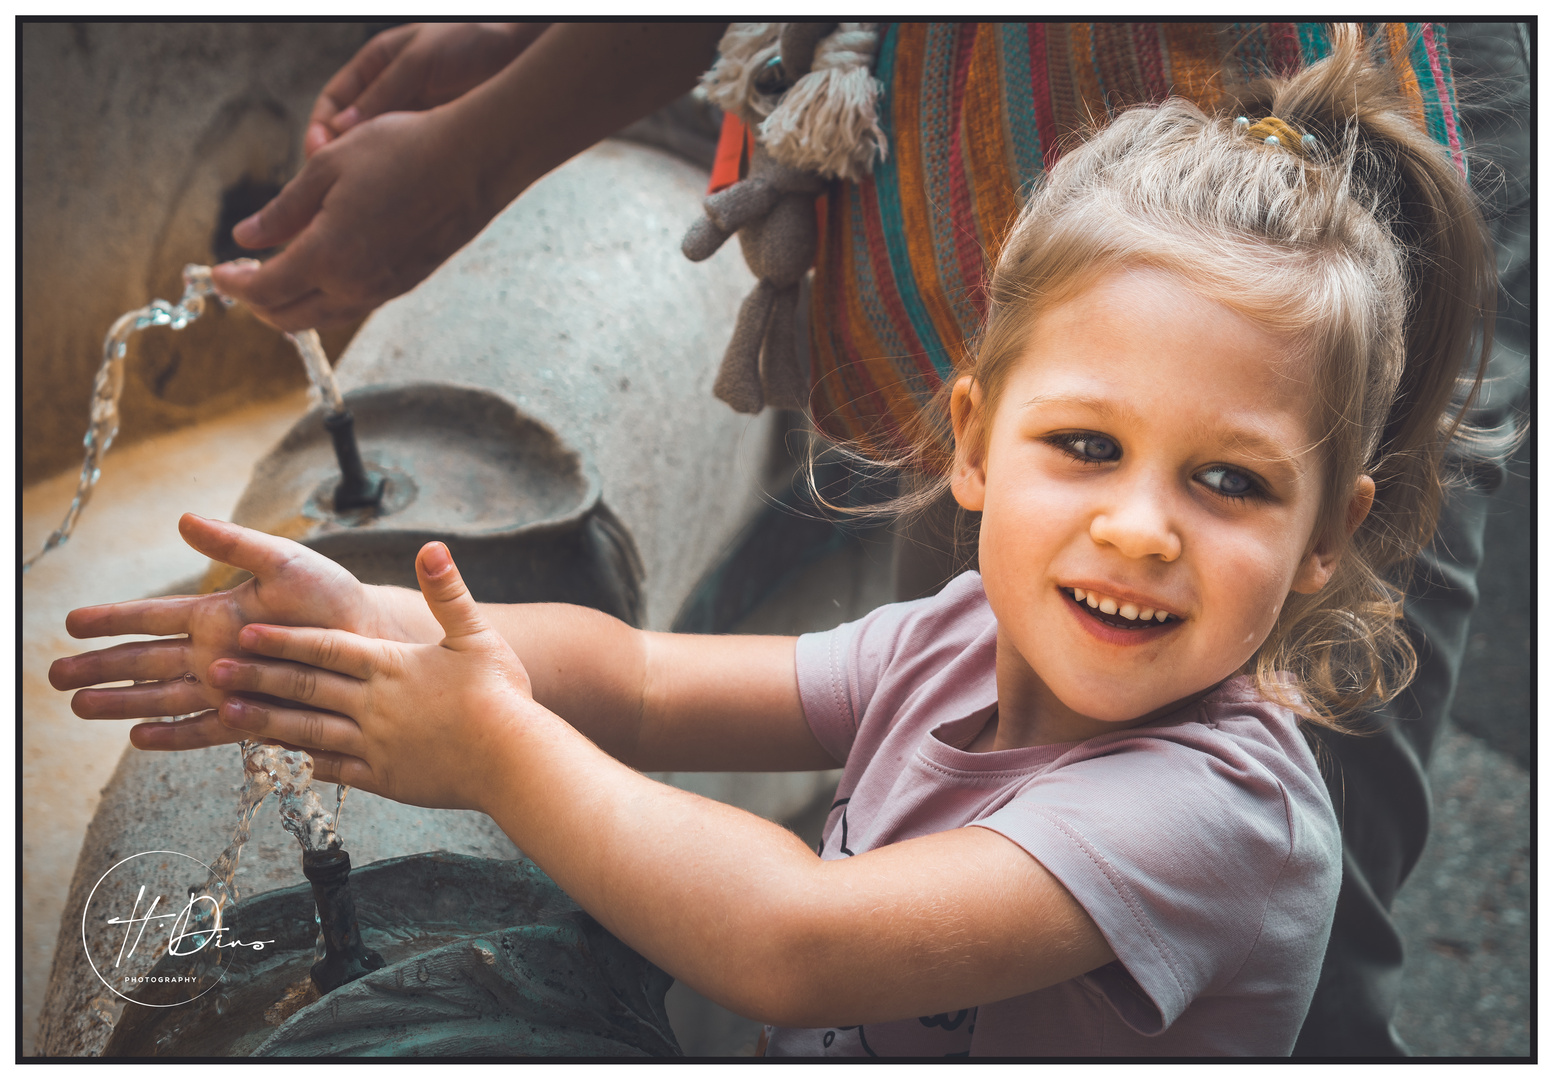
[[[877,454],[954,370],[1022,193],[1092,118],[1169,95],[1213,109],[1331,50],[1323,23],[893,23],[874,73],[890,155],[823,200],[811,311],[811,407]],[[1461,165],[1446,31],[1368,26],[1419,126]],[[1225,57],[1218,62],[1214,57]]]

